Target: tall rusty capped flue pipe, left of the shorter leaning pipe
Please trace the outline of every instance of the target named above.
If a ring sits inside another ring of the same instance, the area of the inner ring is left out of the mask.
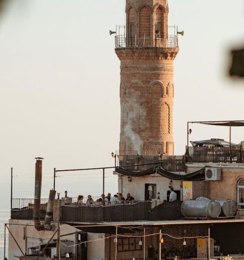
[[[42,180],[42,159],[37,157],[35,163],[35,201],[34,201],[34,225],[38,231],[43,230],[40,223],[40,203],[41,203],[41,180]]]

